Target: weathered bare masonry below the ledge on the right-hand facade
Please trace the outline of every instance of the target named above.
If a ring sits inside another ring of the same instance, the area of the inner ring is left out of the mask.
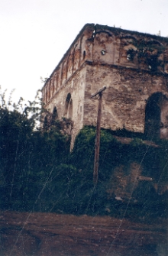
[[[151,76],[148,72],[121,67],[87,65],[85,125],[96,124],[98,100],[90,97],[102,86],[107,87],[102,98],[102,127],[112,130],[125,128],[128,131],[144,132],[147,99],[154,92],[163,92],[168,98],[163,76]]]

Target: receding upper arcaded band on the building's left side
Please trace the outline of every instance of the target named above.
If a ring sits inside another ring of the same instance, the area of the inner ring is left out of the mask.
[[[69,47],[63,59],[60,60],[60,63],[44,84],[42,94],[47,109],[50,101],[53,101],[53,98],[57,95],[57,92],[65,87],[65,83],[85,63],[86,53],[87,60],[92,59],[92,42],[87,40],[92,37],[93,28],[94,26],[91,24],[82,30],[82,34]]]

